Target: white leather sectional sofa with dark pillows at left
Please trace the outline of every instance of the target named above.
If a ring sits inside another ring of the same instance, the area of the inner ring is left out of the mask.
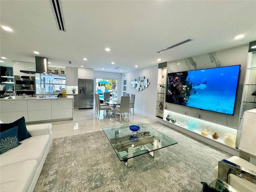
[[[0,154],[0,191],[32,192],[52,144],[52,124],[27,125],[31,137]]]

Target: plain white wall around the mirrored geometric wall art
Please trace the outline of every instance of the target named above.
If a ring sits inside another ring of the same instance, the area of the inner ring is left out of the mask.
[[[147,67],[122,74],[122,77],[127,78],[127,93],[130,93],[130,95],[135,94],[135,110],[139,110],[153,117],[156,116],[157,73],[158,64],[153,67]],[[145,76],[145,78],[148,79],[149,85],[142,91],[136,91],[136,88],[132,87],[131,81],[140,76]]]

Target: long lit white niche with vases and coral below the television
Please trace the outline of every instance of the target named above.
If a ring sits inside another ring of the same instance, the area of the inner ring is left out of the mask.
[[[194,132],[202,137],[214,140],[231,148],[235,148],[237,130],[213,122],[187,115],[179,114],[169,110],[164,110],[163,120],[169,122],[170,127],[178,126],[188,131]]]

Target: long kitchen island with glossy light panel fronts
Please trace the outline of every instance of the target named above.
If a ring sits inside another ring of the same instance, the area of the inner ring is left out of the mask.
[[[0,118],[2,122],[10,123],[24,116],[28,124],[72,120],[73,99],[73,96],[1,98]]]

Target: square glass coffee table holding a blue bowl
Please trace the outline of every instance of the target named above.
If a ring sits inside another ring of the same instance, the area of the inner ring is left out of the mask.
[[[129,126],[138,126],[133,132]],[[120,161],[127,167],[132,166],[134,157],[149,153],[153,158],[157,151],[178,142],[144,123],[134,123],[121,126],[102,128]]]

